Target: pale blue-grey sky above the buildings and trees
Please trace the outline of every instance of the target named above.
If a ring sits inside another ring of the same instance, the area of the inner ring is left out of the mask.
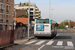
[[[15,4],[28,0],[15,0]],[[41,11],[42,18],[49,18],[49,0],[30,0]],[[75,0],[51,0],[51,19],[61,22],[66,19],[75,21]]]

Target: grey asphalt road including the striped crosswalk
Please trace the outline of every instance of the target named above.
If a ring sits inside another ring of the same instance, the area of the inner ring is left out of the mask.
[[[11,50],[75,50],[75,33],[58,33],[53,39],[34,38]]]

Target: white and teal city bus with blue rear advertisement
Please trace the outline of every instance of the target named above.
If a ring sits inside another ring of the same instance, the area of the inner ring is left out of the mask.
[[[49,19],[35,19],[35,37],[55,37],[56,35],[56,22]]]

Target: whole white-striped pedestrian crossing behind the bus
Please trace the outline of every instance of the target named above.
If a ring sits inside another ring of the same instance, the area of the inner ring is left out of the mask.
[[[66,44],[65,44],[66,43]],[[46,41],[46,40],[32,40],[29,41],[27,43],[25,43],[25,45],[54,45],[54,46],[63,46],[63,44],[65,44],[65,46],[72,46],[74,47],[74,44],[72,41]]]

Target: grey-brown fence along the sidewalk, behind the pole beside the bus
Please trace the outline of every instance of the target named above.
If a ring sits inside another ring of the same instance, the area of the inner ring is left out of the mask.
[[[30,30],[29,36],[34,36],[34,31]],[[28,31],[25,29],[17,29],[15,33],[15,39],[23,39],[28,37]]]

